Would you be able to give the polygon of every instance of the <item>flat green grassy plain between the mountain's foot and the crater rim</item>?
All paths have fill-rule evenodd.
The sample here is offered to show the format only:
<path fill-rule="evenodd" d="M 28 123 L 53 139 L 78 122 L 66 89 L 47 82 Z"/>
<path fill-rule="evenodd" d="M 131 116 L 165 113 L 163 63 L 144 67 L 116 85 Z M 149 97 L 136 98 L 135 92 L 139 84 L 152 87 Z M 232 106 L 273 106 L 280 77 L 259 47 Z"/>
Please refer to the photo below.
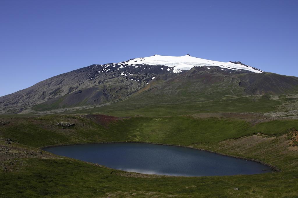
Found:
<path fill-rule="evenodd" d="M 100 113 L 113 116 L 168 116 L 189 115 L 204 112 L 270 112 L 281 105 L 280 100 L 271 96 L 224 96 L 218 100 L 189 98 L 184 102 L 172 100 L 165 102 L 162 98 L 146 99 L 147 95 L 137 95 L 108 106 L 76 110 L 69 113 Z M 140 98 L 139 98 L 140 97 Z"/>

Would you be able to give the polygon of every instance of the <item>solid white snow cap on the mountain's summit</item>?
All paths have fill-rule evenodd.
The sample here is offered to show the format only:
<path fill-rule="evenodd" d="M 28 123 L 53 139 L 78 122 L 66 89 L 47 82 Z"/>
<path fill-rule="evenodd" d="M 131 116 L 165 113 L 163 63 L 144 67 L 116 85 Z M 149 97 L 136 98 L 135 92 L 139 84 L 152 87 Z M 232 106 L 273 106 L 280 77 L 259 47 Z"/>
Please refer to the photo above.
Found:
<path fill-rule="evenodd" d="M 219 62 L 219 61 L 210 61 L 203 58 L 196 58 L 190 55 L 185 56 L 160 56 L 154 55 L 144 58 L 134 58 L 129 61 L 126 61 L 124 64 L 126 65 L 137 65 L 137 64 L 147 64 L 147 65 L 162 65 L 173 67 L 174 73 L 182 72 L 184 69 L 191 69 L 195 66 L 217 66 L 224 69 L 232 69 L 236 71 L 240 71 L 240 69 L 248 70 L 254 73 L 262 73 L 262 70 L 253 68 L 251 66 L 245 66 L 242 64 L 235 64 L 231 62 Z"/>

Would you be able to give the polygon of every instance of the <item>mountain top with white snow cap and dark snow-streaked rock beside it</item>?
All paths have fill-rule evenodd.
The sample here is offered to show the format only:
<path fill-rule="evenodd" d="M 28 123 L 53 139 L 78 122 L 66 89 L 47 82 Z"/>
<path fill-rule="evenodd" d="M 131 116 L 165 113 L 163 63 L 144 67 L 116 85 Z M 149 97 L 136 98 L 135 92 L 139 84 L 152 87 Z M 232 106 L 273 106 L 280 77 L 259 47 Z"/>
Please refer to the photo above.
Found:
<path fill-rule="evenodd" d="M 144 75 L 142 79 L 146 80 L 149 84 L 150 80 L 153 80 L 151 75 L 154 74 L 176 74 L 181 73 L 186 70 L 190 70 L 193 67 L 202 67 L 204 69 L 211 69 L 217 67 L 221 71 L 227 73 L 231 72 L 245 72 L 245 73 L 262 73 L 264 71 L 245 65 L 241 62 L 219 62 L 211 61 L 203 58 L 197 58 L 190 56 L 189 54 L 185 56 L 160 56 L 153 55 L 143 58 L 133 58 L 128 61 L 122 61 L 119 63 L 109 63 L 103 65 L 91 65 L 89 67 L 84 67 L 79 69 L 82 72 L 81 75 L 89 77 L 90 80 L 94 80 L 98 76 L 103 76 L 106 74 L 112 77 L 121 75 L 124 76 L 126 80 L 136 80 L 141 79 L 136 78 L 136 75 Z M 114 73 L 113 73 L 114 72 Z M 112 74 L 113 73 L 113 74 Z M 103 83 L 103 81 L 101 81 Z"/>

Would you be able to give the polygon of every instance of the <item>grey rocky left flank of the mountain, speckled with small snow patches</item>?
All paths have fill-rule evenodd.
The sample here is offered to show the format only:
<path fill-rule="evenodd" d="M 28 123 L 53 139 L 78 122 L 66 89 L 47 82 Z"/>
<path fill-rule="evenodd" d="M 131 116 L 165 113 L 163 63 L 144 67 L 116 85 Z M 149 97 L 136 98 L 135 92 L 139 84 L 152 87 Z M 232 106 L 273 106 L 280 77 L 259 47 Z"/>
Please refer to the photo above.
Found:
<path fill-rule="evenodd" d="M 177 74 L 162 66 L 91 65 L 51 77 L 29 88 L 0 97 L 2 112 L 17 112 L 44 103 L 42 109 L 101 104 L 122 99 L 148 85 L 156 76 Z M 173 71 L 173 69 L 172 69 Z"/>

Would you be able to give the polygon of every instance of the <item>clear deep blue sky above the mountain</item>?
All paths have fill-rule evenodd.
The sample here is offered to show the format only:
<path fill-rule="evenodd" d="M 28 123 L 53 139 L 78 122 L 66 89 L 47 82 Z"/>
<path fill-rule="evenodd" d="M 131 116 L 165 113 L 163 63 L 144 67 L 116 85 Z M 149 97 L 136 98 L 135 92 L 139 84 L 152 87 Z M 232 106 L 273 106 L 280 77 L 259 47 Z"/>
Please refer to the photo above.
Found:
<path fill-rule="evenodd" d="M 1 0 L 0 35 L 0 96 L 154 54 L 298 76 L 297 0 Z"/>

